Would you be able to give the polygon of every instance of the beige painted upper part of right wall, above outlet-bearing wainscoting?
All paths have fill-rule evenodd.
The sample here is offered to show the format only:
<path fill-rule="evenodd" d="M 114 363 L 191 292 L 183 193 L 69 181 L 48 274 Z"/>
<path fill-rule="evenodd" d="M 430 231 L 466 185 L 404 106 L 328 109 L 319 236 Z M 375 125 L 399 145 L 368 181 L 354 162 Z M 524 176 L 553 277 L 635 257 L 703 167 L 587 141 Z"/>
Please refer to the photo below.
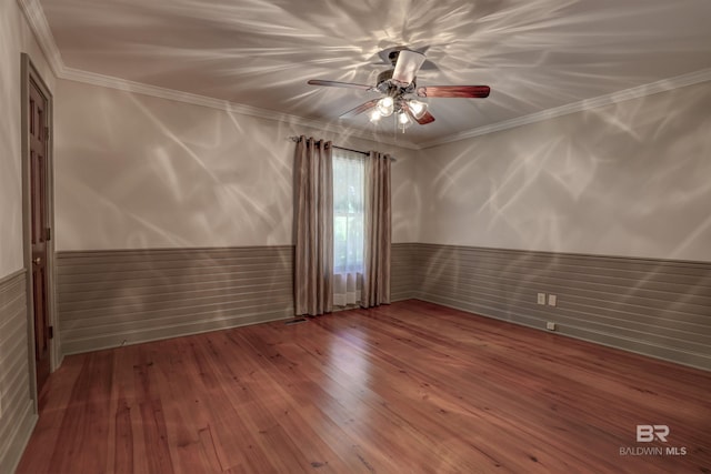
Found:
<path fill-rule="evenodd" d="M 420 152 L 419 241 L 711 261 L 711 82 Z"/>

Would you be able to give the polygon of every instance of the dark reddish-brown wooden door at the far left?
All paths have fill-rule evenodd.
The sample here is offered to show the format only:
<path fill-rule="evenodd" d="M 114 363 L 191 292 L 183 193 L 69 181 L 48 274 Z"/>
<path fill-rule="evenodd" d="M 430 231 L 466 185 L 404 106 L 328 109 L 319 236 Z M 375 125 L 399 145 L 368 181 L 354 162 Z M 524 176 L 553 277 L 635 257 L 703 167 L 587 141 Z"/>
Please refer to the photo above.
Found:
<path fill-rule="evenodd" d="M 49 376 L 49 312 L 47 307 L 48 273 L 48 169 L 49 121 L 47 98 L 30 80 L 29 140 L 30 140 L 30 210 L 32 245 L 32 299 L 34 303 L 34 357 L 37 363 L 37 393 Z"/>

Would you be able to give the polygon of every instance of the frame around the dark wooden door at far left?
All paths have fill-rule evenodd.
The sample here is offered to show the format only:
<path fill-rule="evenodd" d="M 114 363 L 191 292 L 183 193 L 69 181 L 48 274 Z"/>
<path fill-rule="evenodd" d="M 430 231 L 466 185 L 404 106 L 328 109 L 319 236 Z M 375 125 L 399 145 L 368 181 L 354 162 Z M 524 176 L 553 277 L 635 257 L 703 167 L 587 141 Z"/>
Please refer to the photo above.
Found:
<path fill-rule="evenodd" d="M 54 104 L 49 87 L 40 75 L 38 69 L 27 53 L 21 53 L 21 117 L 22 117 L 22 251 L 24 256 L 24 273 L 27 286 L 27 322 L 28 322 L 28 359 L 30 370 L 30 393 L 38 411 L 39 394 L 37 393 L 37 367 L 34 364 L 34 299 L 32 297 L 32 209 L 30 206 L 30 133 L 28 102 L 30 97 L 30 81 L 34 82 L 40 92 L 47 98 L 47 213 L 51 235 L 47 248 L 47 312 L 48 323 L 54 327 L 53 337 L 49 340 L 49 371 L 54 372 L 61 364 L 59 331 L 57 321 L 56 297 L 56 266 L 54 266 Z"/>

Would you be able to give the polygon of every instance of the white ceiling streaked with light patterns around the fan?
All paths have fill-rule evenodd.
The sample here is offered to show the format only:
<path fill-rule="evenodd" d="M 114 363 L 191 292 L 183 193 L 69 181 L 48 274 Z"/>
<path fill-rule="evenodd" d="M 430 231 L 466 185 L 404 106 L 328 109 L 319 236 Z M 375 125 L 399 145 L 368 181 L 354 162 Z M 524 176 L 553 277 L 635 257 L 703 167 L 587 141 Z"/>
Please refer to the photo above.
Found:
<path fill-rule="evenodd" d="M 408 129 L 414 145 L 711 68 L 709 0 L 40 3 L 68 68 L 310 120 L 336 123 L 377 94 L 307 80 L 374 84 L 388 69 L 378 52 L 394 46 L 428 48 L 437 69 L 419 85 L 492 88 L 430 99 L 437 121 Z M 373 128 L 364 114 L 347 123 Z"/>

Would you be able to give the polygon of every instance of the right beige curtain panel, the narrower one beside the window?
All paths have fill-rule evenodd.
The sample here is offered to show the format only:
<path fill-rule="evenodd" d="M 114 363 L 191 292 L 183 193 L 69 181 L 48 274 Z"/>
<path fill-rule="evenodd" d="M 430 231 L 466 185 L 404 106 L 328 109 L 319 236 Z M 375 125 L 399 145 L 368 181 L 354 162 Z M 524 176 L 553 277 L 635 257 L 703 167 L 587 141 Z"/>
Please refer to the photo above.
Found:
<path fill-rule="evenodd" d="M 371 151 L 365 162 L 364 307 L 390 303 L 390 155 Z"/>

